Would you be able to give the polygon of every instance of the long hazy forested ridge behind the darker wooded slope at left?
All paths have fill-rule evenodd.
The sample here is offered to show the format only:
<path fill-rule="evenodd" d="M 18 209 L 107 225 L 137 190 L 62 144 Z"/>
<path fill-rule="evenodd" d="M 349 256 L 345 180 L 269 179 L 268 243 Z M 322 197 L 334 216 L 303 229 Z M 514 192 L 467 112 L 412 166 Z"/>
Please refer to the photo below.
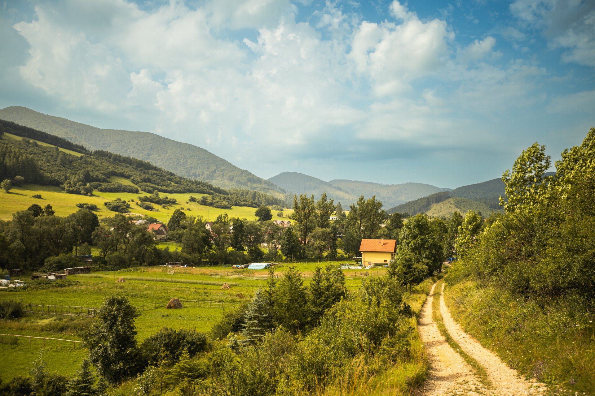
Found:
<path fill-rule="evenodd" d="M 0 119 L 48 132 L 84 145 L 89 150 L 106 150 L 149 161 L 176 175 L 226 189 L 248 188 L 277 197 L 281 197 L 283 192 L 274 183 L 240 169 L 201 147 L 149 132 L 101 129 L 17 106 L 0 110 Z"/>

